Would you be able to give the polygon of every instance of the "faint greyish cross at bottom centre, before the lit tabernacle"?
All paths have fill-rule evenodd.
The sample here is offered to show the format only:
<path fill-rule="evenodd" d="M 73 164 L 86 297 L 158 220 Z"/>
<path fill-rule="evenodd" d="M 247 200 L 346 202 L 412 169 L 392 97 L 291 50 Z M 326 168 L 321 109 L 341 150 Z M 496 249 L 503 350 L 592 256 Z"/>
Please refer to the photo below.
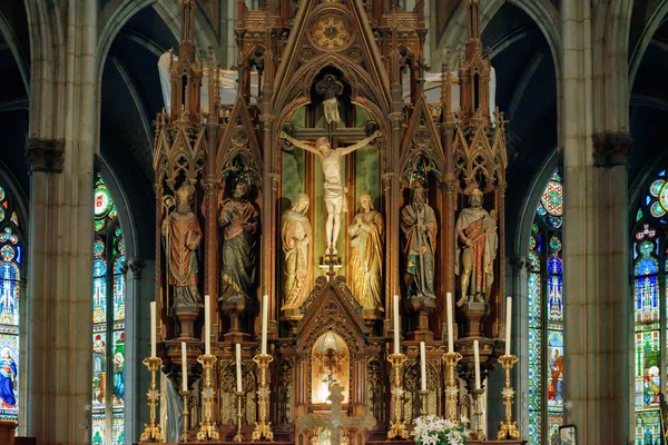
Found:
<path fill-rule="evenodd" d="M 332 411 L 327 417 L 320 417 L 308 414 L 297 419 L 301 428 L 315 431 L 317 428 L 328 429 L 332 434 L 331 445 L 341 445 L 341 432 L 344 428 L 370 429 L 375 425 L 375 418 L 370 413 L 363 416 L 348 417 L 342 412 L 343 388 L 337 383 L 330 385 L 330 396 Z"/>

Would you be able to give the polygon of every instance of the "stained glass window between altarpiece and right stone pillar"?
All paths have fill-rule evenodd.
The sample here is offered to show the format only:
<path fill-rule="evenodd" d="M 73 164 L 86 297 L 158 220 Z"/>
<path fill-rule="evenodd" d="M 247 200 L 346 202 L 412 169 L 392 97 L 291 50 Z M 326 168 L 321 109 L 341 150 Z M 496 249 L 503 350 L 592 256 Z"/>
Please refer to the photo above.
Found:
<path fill-rule="evenodd" d="M 529 443 L 551 443 L 563 423 L 563 181 L 548 181 L 529 244 Z M 548 438 L 547 441 L 544 438 Z"/>

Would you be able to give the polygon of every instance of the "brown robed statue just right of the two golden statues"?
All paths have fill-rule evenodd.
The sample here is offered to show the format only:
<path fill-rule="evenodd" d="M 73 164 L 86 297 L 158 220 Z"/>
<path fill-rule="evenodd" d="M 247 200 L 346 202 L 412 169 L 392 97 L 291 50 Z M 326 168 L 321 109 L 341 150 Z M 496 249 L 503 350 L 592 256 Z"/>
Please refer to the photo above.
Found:
<path fill-rule="evenodd" d="M 416 184 L 411 202 L 401 209 L 401 229 L 405 235 L 406 296 L 435 298 L 434 254 L 439 226 L 434 210 L 426 204 L 426 190 Z"/>

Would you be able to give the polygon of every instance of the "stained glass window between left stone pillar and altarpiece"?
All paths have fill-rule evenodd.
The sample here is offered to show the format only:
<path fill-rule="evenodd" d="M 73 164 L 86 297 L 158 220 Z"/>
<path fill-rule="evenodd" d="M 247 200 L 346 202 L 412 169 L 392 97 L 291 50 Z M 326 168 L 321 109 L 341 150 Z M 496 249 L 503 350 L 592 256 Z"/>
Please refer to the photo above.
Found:
<path fill-rule="evenodd" d="M 92 443 L 125 441 L 125 241 L 101 177 L 94 196 Z"/>

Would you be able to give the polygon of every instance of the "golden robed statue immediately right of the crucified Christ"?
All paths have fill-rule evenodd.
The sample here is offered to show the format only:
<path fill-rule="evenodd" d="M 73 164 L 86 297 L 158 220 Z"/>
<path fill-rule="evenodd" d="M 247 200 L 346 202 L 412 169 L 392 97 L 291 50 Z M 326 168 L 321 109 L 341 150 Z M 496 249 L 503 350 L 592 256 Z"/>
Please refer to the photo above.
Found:
<path fill-rule="evenodd" d="M 348 227 L 351 236 L 351 290 L 364 309 L 381 304 L 383 267 L 383 217 L 374 210 L 371 195 L 360 196 L 360 211 Z"/>

